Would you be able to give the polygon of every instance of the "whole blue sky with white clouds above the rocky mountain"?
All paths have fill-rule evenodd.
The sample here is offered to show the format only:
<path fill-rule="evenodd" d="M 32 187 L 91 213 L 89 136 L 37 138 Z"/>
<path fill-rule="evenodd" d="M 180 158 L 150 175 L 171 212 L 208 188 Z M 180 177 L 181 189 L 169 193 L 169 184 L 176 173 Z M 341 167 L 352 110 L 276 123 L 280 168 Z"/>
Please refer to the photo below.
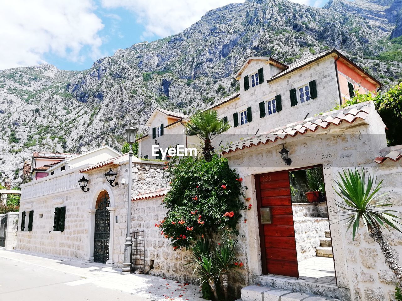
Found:
<path fill-rule="evenodd" d="M 119 48 L 179 33 L 233 2 L 244 0 L 0 0 L 0 70 L 40 63 L 88 69 Z"/>

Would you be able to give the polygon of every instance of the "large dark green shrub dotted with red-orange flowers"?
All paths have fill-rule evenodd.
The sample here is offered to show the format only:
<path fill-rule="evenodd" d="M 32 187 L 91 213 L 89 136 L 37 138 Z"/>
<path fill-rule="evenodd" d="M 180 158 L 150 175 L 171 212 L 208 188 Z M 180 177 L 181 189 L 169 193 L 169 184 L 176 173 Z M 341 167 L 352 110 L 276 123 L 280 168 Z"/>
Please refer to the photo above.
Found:
<path fill-rule="evenodd" d="M 246 187 L 228 161 L 216 156 L 210 162 L 193 157 L 176 160 L 166 164 L 172 189 L 163 202 L 166 217 L 155 225 L 161 234 L 178 248 L 189 247 L 203 235 L 220 234 L 223 240 L 238 235 L 240 211 L 248 208 L 243 201 Z"/>

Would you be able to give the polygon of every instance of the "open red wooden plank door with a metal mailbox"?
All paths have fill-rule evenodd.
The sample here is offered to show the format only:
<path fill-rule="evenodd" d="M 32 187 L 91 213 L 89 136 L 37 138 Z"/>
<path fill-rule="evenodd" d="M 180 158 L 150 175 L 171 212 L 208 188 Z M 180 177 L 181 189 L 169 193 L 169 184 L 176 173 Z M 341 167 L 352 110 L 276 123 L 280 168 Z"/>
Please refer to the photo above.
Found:
<path fill-rule="evenodd" d="M 263 272 L 299 277 L 288 171 L 256 175 Z M 270 207 L 271 224 L 262 224 L 260 208 Z"/>

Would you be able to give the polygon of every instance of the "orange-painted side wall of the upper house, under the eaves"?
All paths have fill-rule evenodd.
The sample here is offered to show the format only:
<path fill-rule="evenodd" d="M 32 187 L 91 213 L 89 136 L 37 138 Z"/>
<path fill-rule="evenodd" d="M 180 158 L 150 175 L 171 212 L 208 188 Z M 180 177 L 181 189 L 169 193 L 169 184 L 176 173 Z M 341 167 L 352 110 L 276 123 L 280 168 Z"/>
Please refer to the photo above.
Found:
<path fill-rule="evenodd" d="M 355 90 L 358 90 L 359 94 L 366 94 L 366 90 L 369 90 L 373 94 L 377 94 L 377 87 L 369 82 L 367 79 L 363 78 L 361 74 L 353 70 L 351 67 L 346 65 L 341 59 L 336 62 L 336 65 L 338 67 L 338 78 L 339 78 L 339 87 L 340 87 L 340 93 L 342 95 L 342 100 L 343 103 L 345 103 L 346 100 L 349 100 L 349 87 L 348 87 L 348 80 L 345 77 L 345 75 L 353 81 Z M 342 73 L 342 74 L 341 74 Z M 364 89 L 365 88 L 365 89 Z"/>

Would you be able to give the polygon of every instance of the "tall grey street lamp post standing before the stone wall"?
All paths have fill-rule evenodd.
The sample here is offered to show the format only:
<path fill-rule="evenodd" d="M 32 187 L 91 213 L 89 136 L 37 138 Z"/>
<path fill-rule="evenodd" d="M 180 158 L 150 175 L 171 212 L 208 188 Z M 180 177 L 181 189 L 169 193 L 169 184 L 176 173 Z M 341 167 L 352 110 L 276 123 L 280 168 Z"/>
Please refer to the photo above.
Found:
<path fill-rule="evenodd" d="M 127 232 L 126 241 L 124 243 L 124 262 L 123 272 L 130 272 L 131 270 L 131 189 L 132 189 L 132 165 L 133 165 L 133 143 L 137 135 L 137 130 L 133 126 L 125 129 L 127 135 L 127 142 L 130 145 L 128 152 L 128 193 L 127 193 Z"/>

